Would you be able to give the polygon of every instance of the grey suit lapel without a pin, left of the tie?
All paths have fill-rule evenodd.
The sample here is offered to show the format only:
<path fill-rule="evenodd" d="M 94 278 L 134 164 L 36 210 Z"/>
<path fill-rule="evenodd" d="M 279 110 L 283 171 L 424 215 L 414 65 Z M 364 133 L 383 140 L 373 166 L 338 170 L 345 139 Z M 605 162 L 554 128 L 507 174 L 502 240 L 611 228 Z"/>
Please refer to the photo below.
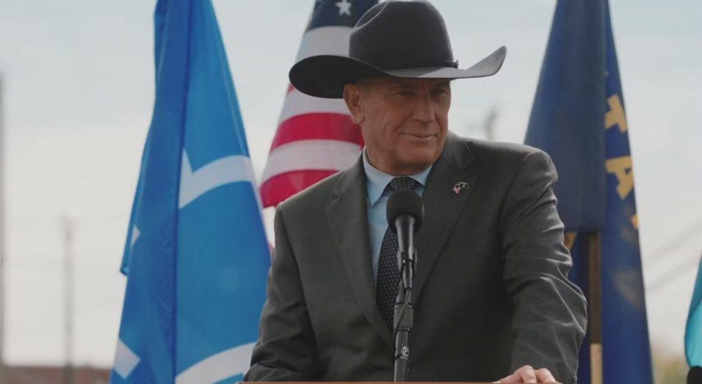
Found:
<path fill-rule="evenodd" d="M 326 215 L 339 248 L 338 256 L 366 318 L 390 346 L 390 332 L 376 304 L 376 282 L 371 266 L 366 207 L 366 177 L 360 158 L 354 167 L 343 172 L 332 192 L 336 198 L 327 205 Z"/>

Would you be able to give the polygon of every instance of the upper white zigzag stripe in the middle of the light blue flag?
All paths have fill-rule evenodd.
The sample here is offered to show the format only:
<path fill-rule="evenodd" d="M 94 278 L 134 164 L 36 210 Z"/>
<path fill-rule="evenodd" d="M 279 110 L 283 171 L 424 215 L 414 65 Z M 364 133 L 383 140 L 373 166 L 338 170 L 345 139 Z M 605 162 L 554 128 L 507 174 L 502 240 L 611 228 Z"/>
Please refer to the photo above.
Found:
<path fill-rule="evenodd" d="M 220 158 L 204 165 L 204 167 L 199 168 L 195 172 L 192 172 L 190 159 L 187 158 L 185 150 L 183 150 L 181 161 L 178 208 L 185 207 L 207 191 L 211 191 L 218 186 L 237 181 L 249 181 L 252 186 L 256 185 L 253 169 L 251 168 L 251 160 L 246 156 L 237 155 Z M 254 188 L 254 190 L 257 189 Z M 258 199 L 258 193 L 256 193 L 256 198 Z M 260 201 L 258 206 L 261 207 Z"/>

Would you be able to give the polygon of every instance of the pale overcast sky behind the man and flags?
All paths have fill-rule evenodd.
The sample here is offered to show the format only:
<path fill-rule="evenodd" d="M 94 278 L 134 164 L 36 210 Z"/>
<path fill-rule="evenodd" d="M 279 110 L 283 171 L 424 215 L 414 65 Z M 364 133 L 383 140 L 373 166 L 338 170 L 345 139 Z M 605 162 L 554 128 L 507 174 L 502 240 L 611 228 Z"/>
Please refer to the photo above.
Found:
<path fill-rule="evenodd" d="M 215 0 L 260 178 L 312 0 Z M 453 83 L 450 129 L 498 109 L 522 142 L 554 0 L 435 0 L 462 64 L 498 46 L 497 76 Z M 682 352 L 702 253 L 702 4 L 612 1 L 635 169 L 651 338 Z M 118 272 L 153 95 L 154 1 L 0 0 L 6 101 L 6 359 L 62 363 L 62 217 L 75 221 L 79 363 L 109 366 Z"/>

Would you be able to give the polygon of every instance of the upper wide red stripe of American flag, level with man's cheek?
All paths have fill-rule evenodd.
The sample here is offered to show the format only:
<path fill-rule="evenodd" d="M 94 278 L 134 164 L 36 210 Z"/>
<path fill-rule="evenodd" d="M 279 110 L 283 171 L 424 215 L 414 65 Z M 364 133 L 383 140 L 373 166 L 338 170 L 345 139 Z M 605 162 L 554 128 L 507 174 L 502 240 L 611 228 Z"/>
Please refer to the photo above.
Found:
<path fill-rule="evenodd" d="M 271 151 L 298 140 L 338 140 L 363 146 L 361 128 L 351 116 L 342 114 L 304 114 L 284 121 L 275 134 Z"/>

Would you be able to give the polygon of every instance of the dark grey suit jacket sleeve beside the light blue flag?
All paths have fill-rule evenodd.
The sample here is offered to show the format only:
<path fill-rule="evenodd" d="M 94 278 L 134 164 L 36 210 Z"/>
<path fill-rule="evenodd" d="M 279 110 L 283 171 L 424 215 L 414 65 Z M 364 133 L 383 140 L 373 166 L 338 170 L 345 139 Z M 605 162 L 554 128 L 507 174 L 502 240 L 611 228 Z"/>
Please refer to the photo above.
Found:
<path fill-rule="evenodd" d="M 258 341 L 244 381 L 307 381 L 317 378 L 317 344 L 307 315 L 298 264 L 283 220 L 275 214 L 275 249 Z"/>

